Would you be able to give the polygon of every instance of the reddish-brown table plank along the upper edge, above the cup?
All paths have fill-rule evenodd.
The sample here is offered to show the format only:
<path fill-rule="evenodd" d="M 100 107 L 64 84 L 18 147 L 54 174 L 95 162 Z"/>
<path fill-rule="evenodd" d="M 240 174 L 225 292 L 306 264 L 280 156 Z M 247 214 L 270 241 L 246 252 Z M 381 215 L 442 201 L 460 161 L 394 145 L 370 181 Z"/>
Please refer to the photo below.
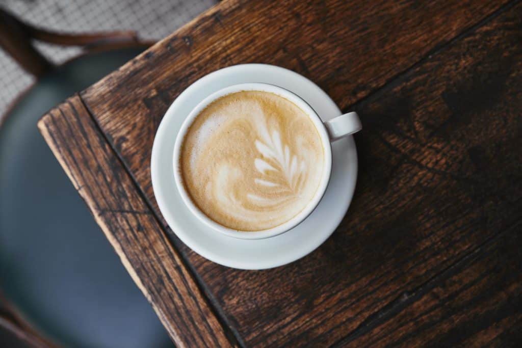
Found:
<path fill-rule="evenodd" d="M 152 199 L 156 129 L 198 78 L 234 64 L 275 64 L 312 79 L 344 108 L 506 2 L 222 2 L 81 97 Z"/>

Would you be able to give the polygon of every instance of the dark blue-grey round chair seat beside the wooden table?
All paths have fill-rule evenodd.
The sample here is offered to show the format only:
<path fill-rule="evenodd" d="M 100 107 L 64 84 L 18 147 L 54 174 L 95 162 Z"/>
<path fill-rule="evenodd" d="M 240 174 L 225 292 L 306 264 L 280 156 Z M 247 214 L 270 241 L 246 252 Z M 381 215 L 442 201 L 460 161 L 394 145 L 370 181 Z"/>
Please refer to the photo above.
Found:
<path fill-rule="evenodd" d="M 173 346 L 36 126 L 141 51 L 92 53 L 57 67 L 0 127 L 0 289 L 63 346 Z"/>

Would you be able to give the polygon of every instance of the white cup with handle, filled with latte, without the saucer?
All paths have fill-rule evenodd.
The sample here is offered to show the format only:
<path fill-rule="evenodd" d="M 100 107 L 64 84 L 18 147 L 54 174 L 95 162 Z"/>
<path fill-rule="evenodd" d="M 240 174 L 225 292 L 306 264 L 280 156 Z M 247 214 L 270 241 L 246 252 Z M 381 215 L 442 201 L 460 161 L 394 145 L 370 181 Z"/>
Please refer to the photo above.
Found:
<path fill-rule="evenodd" d="M 245 121 L 250 113 L 255 115 Z M 287 122 L 285 113 L 295 119 Z M 210 94 L 183 122 L 174 145 L 174 180 L 188 209 L 212 230 L 242 239 L 273 237 L 301 223 L 317 207 L 331 175 L 331 142 L 359 130 L 355 112 L 323 122 L 287 89 L 267 83 L 230 86 Z M 235 158 L 242 145 L 231 139 L 251 139 L 247 153 L 255 152 L 255 158 Z M 215 148 L 210 141 L 216 142 Z M 302 149 L 306 151 L 301 156 L 293 153 Z M 211 151 L 218 152 L 207 155 Z M 258 177 L 247 181 L 234 163 L 222 161 L 224 156 L 242 161 L 243 170 Z M 223 163 L 215 163 L 217 157 Z M 276 177 L 278 170 L 287 175 Z M 296 187 L 301 191 L 295 193 Z M 238 198 L 245 190 L 248 199 Z"/>

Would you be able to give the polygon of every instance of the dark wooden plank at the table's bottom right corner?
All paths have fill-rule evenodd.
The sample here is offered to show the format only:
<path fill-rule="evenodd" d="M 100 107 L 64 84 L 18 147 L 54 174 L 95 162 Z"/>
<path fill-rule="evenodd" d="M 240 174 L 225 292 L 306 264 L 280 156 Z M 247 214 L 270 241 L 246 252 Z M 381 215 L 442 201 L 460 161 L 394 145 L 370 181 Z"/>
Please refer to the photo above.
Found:
<path fill-rule="evenodd" d="M 386 322 L 336 346 L 509 347 L 522 342 L 522 223 L 443 274 Z M 518 229 L 516 231 L 515 229 Z"/>

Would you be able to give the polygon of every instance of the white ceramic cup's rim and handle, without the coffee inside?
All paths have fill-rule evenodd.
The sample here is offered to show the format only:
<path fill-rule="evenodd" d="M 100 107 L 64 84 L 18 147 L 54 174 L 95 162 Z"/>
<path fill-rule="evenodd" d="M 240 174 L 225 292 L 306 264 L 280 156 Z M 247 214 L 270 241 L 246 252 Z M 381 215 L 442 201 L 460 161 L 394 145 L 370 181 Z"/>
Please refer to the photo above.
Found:
<path fill-rule="evenodd" d="M 201 111 L 205 109 L 210 103 L 223 97 L 224 95 L 231 94 L 234 92 L 240 91 L 264 91 L 270 92 L 281 97 L 288 99 L 293 102 L 295 105 L 299 106 L 301 110 L 303 110 L 314 123 L 319 136 L 321 137 L 321 141 L 323 143 L 324 149 L 324 170 L 323 177 L 321 178 L 321 182 L 317 188 L 317 191 L 314 197 L 310 200 L 310 202 L 306 205 L 306 207 L 295 217 L 290 219 L 289 221 L 280 224 L 276 227 L 272 227 L 271 229 L 261 230 L 261 231 L 239 231 L 230 229 L 229 227 L 225 227 L 209 217 L 205 213 L 203 213 L 199 208 L 194 204 L 189 194 L 187 193 L 185 186 L 183 185 L 183 179 L 181 176 L 181 168 L 180 168 L 180 155 L 181 155 L 181 147 L 183 144 L 183 140 L 187 133 L 188 128 L 194 122 L 194 119 L 199 115 Z M 188 114 L 187 118 L 181 125 L 180 131 L 177 134 L 176 142 L 174 145 L 174 153 L 173 153 L 173 164 L 174 164 L 174 179 L 176 182 L 177 189 L 180 192 L 180 195 L 185 202 L 185 205 L 188 209 L 203 223 L 207 226 L 211 227 L 213 230 L 223 233 L 230 237 L 241 238 L 241 239 L 262 239 L 269 238 L 286 232 L 299 223 L 301 223 L 312 211 L 317 207 L 319 201 L 323 198 L 323 195 L 326 191 L 326 187 L 328 186 L 328 182 L 330 180 L 331 168 L 332 168 L 332 152 L 331 152 L 331 141 L 335 141 L 339 138 L 348 136 L 353 133 L 357 133 L 361 130 L 361 121 L 359 120 L 359 116 L 355 112 L 349 112 L 347 114 L 343 114 L 337 116 L 335 118 L 330 119 L 329 121 L 323 122 L 319 115 L 312 109 L 312 107 L 306 103 L 303 99 L 301 99 L 298 95 L 292 93 L 291 91 L 275 86 L 269 85 L 268 83 L 241 83 L 240 85 L 234 85 L 227 88 L 223 88 L 217 92 L 210 94 L 207 98 L 201 101 L 196 107 L 192 110 L 191 113 Z"/>

